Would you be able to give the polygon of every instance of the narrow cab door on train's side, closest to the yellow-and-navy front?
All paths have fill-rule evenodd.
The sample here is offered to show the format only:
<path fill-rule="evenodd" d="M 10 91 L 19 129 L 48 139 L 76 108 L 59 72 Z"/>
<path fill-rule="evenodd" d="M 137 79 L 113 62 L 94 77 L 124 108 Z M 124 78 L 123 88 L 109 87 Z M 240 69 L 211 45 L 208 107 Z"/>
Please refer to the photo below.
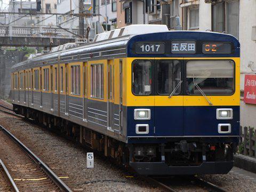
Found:
<path fill-rule="evenodd" d="M 123 134 L 123 60 L 119 60 L 119 133 Z"/>

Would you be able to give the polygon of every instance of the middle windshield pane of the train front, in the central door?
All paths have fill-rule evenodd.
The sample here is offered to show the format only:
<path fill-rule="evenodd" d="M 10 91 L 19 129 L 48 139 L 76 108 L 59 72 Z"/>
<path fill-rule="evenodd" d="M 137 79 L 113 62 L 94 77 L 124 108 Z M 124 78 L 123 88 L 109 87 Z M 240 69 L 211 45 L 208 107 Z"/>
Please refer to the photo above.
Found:
<path fill-rule="evenodd" d="M 181 63 L 178 60 L 159 60 L 156 65 L 157 94 L 170 95 L 181 81 Z M 181 86 L 174 95 L 181 92 Z"/>

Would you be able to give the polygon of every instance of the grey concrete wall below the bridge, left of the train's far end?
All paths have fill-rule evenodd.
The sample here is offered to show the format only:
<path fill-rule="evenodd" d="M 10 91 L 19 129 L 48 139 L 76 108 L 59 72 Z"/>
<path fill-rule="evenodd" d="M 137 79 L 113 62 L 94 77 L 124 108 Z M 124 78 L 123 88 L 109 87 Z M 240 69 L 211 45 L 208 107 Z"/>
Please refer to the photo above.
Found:
<path fill-rule="evenodd" d="M 0 50 L 0 98 L 8 99 L 11 93 L 11 67 L 23 60 L 22 51 Z"/>

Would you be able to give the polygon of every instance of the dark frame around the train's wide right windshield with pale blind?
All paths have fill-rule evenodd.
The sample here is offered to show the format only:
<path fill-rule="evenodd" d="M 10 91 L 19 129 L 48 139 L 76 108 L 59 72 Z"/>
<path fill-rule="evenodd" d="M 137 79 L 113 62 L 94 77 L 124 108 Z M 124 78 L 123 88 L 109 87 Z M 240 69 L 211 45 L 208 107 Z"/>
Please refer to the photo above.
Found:
<path fill-rule="evenodd" d="M 187 63 L 189 61 L 232 61 L 234 63 L 234 78 L 233 78 L 233 83 L 234 83 L 234 91 L 231 94 L 206 94 L 206 96 L 231 96 L 234 95 L 236 93 L 236 62 L 233 59 L 189 59 L 189 60 L 183 60 L 184 62 L 184 71 L 183 74 L 185 74 L 183 76 L 183 82 L 185 82 L 184 84 L 184 94 L 183 95 L 189 95 L 189 96 L 201 96 L 202 94 L 189 94 L 187 92 L 188 90 L 188 85 L 187 85 Z M 204 90 L 203 90 L 204 91 Z"/>

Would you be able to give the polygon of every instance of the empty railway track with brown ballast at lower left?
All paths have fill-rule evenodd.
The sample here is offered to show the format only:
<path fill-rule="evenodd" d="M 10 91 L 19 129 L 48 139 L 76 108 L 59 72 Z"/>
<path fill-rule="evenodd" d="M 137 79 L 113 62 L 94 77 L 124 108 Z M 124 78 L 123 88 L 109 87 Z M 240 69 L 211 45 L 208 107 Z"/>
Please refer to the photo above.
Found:
<path fill-rule="evenodd" d="M 20 191 L 71 191 L 31 150 L 0 125 L 0 158 Z"/>

